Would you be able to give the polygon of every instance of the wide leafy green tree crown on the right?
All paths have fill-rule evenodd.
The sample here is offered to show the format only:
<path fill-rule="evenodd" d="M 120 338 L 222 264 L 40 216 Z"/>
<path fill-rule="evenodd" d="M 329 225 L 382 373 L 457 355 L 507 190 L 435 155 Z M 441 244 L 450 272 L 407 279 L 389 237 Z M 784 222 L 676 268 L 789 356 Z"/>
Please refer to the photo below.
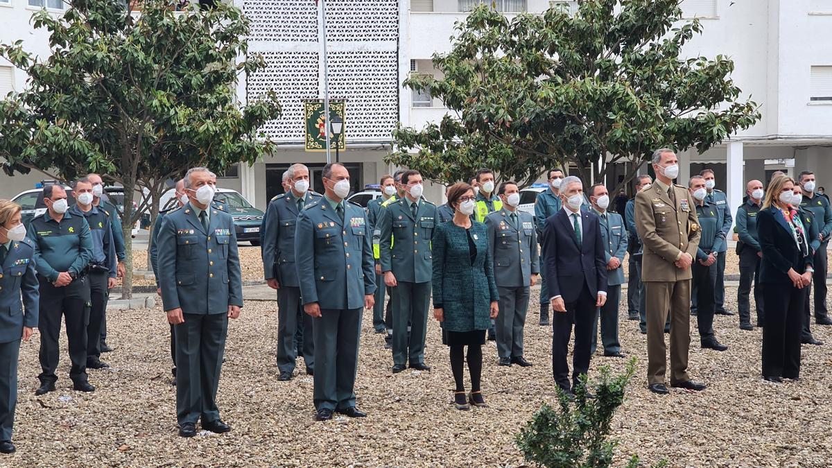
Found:
<path fill-rule="evenodd" d="M 658 147 L 704 152 L 760 119 L 730 78 L 730 58 L 681 57 L 702 32 L 698 20 L 682 20 L 681 0 L 577 3 L 575 14 L 470 12 L 451 51 L 433 56 L 442 77 L 404 83 L 451 113 L 397 128 L 386 161 L 441 182 L 490 167 L 524 183 L 567 166 L 603 180 L 611 164 L 628 162 L 626 184 Z"/>

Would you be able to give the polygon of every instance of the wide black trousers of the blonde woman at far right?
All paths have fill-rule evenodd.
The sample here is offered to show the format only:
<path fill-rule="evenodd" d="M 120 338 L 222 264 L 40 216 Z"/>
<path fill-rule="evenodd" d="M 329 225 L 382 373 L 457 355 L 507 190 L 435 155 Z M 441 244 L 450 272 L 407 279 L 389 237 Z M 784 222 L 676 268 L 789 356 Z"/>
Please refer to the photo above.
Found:
<path fill-rule="evenodd" d="M 807 288 L 789 284 L 763 285 L 765 326 L 763 326 L 763 376 L 800 376 L 800 328 Z"/>

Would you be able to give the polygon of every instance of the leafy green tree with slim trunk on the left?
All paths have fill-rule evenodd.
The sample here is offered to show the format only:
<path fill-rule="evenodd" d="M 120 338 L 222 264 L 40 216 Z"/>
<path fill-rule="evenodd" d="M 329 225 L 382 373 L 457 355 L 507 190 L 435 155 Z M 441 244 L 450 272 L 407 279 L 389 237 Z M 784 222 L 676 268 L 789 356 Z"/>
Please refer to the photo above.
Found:
<path fill-rule="evenodd" d="M 42 60 L 22 41 L 0 56 L 28 73 L 27 87 L 0 101 L 0 157 L 8 175 L 43 172 L 72 181 L 98 172 L 126 187 L 122 296 L 132 286 L 131 227 L 188 167 L 214 171 L 254 163 L 274 143 L 258 129 L 280 116 L 275 93 L 236 98 L 237 79 L 265 67 L 248 54 L 249 20 L 216 2 L 184 12 L 177 0 L 72 0 L 61 17 L 35 12 L 52 55 Z M 134 198 L 138 209 L 131 211 Z"/>

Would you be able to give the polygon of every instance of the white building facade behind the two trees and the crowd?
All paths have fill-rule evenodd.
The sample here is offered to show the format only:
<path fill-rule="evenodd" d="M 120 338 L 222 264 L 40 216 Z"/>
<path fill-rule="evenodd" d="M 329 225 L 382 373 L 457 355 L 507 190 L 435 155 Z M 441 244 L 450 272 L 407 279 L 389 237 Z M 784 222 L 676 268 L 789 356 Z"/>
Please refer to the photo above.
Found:
<path fill-rule="evenodd" d="M 393 169 L 383 158 L 391 149 L 396 122 L 422 127 L 448 112 L 438 100 L 414 94 L 401 83 L 411 72 L 438 76 L 433 53 L 449 50 L 454 23 L 482 1 L 326 1 L 329 97 L 346 102 L 347 150 L 339 156 L 349 167 L 354 190 L 378 183 Z M 280 174 L 290 163 L 305 162 L 319 178 L 325 162 L 325 153 L 305 152 L 303 146 L 303 103 L 324 97 L 319 7 L 314 0 L 234 2 L 252 20 L 250 51 L 262 53 L 269 63 L 265 72 L 240 82 L 238 96 L 245 102 L 274 88 L 284 114 L 265 128 L 279 143 L 278 151 L 254 167 L 232 168 L 220 185 L 265 208 L 270 197 L 282 192 Z M 59 3 L 0 0 L 5 26 L 0 42 L 22 38 L 28 50 L 47 54 L 47 37 L 32 30 L 29 17 L 39 5 Z M 555 3 L 576 6 L 567 0 L 495 0 L 507 15 L 542 12 Z M 717 187 L 729 192 L 732 207 L 739 206 L 747 180 L 766 181 L 775 170 L 794 176 L 812 170 L 824 186 L 832 175 L 832 0 L 685 0 L 682 8 L 686 17 L 699 17 L 704 28 L 688 44 L 686 55 L 730 56 L 735 62 L 732 78 L 743 97 L 760 104 L 762 119 L 704 154 L 682 152 L 679 181 L 711 167 Z M 0 63 L 0 93 L 19 90 L 25 81 L 22 72 Z M 12 197 L 32 187 L 39 176 L 0 178 L 0 196 Z M 319 182 L 314 187 L 321 188 Z M 438 187 L 426 195 L 441 201 Z"/>

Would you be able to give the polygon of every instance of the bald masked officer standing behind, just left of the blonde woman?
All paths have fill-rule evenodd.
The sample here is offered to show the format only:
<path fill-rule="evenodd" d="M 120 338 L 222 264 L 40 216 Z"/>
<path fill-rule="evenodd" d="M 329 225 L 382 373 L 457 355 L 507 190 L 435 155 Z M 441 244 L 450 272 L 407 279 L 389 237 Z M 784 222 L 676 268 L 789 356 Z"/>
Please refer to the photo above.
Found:
<path fill-rule="evenodd" d="M 740 256 L 740 287 L 736 293 L 737 311 L 740 314 L 740 329 L 754 330 L 751 326 L 751 304 L 749 295 L 754 282 L 754 302 L 757 309 L 757 326 L 765 321 L 765 304 L 760 285 L 760 259 L 763 257 L 760 235 L 757 233 L 757 215 L 763 203 L 763 182 L 754 180 L 745 185 L 748 200 L 736 210 L 736 232 L 739 241 L 736 253 Z"/>

